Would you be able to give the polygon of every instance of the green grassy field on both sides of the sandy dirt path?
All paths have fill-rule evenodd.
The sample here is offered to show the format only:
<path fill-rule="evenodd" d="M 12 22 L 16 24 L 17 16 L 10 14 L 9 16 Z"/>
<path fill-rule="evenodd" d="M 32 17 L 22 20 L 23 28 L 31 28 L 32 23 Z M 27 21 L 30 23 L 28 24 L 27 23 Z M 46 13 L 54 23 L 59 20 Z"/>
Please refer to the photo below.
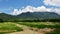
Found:
<path fill-rule="evenodd" d="M 60 23 L 58 22 L 4 22 L 0 23 L 0 34 L 23 30 L 22 27 L 18 27 L 14 23 L 37 29 L 51 28 L 55 30 L 46 34 L 60 34 Z"/>

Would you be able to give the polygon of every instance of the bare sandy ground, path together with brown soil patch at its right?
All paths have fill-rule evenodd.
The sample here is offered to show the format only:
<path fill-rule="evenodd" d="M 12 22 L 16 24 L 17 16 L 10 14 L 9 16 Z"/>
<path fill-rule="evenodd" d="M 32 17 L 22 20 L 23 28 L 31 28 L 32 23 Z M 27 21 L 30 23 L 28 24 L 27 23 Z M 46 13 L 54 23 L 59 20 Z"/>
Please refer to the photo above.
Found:
<path fill-rule="evenodd" d="M 46 32 L 50 32 L 53 29 L 49 29 L 49 28 L 44 28 L 44 29 L 37 29 L 38 31 L 35 30 L 31 30 L 31 27 L 28 27 L 26 25 L 21 25 L 21 24 L 17 24 L 17 23 L 13 23 L 18 27 L 22 27 L 23 31 L 20 32 L 14 32 L 14 33 L 10 33 L 10 34 L 46 34 Z M 36 28 L 33 28 L 36 29 Z"/>

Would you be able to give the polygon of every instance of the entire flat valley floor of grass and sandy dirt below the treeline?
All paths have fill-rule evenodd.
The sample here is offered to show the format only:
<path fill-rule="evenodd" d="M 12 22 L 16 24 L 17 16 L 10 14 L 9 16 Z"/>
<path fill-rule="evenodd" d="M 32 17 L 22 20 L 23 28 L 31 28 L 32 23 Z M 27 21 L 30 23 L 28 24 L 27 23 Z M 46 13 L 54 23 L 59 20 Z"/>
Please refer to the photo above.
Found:
<path fill-rule="evenodd" d="M 60 23 L 4 22 L 0 23 L 0 34 L 5 34 L 4 32 L 6 34 L 60 34 Z"/>

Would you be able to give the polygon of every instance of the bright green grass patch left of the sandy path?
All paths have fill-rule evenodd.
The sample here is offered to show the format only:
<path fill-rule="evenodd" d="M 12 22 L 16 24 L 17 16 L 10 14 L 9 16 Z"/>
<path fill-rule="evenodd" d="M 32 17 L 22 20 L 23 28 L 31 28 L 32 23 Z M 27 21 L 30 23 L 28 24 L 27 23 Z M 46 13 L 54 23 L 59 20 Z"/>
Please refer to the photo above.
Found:
<path fill-rule="evenodd" d="M 0 34 L 17 32 L 17 31 L 22 31 L 22 28 L 8 22 L 0 23 Z"/>

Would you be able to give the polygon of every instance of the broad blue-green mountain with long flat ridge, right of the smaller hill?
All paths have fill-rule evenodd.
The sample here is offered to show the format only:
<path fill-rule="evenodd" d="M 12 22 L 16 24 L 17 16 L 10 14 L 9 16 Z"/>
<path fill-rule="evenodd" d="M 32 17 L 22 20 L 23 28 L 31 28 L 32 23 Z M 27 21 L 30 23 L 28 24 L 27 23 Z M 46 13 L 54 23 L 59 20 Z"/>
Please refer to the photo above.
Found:
<path fill-rule="evenodd" d="M 53 12 L 27 12 L 17 15 L 20 19 L 60 19 L 60 15 Z"/>

